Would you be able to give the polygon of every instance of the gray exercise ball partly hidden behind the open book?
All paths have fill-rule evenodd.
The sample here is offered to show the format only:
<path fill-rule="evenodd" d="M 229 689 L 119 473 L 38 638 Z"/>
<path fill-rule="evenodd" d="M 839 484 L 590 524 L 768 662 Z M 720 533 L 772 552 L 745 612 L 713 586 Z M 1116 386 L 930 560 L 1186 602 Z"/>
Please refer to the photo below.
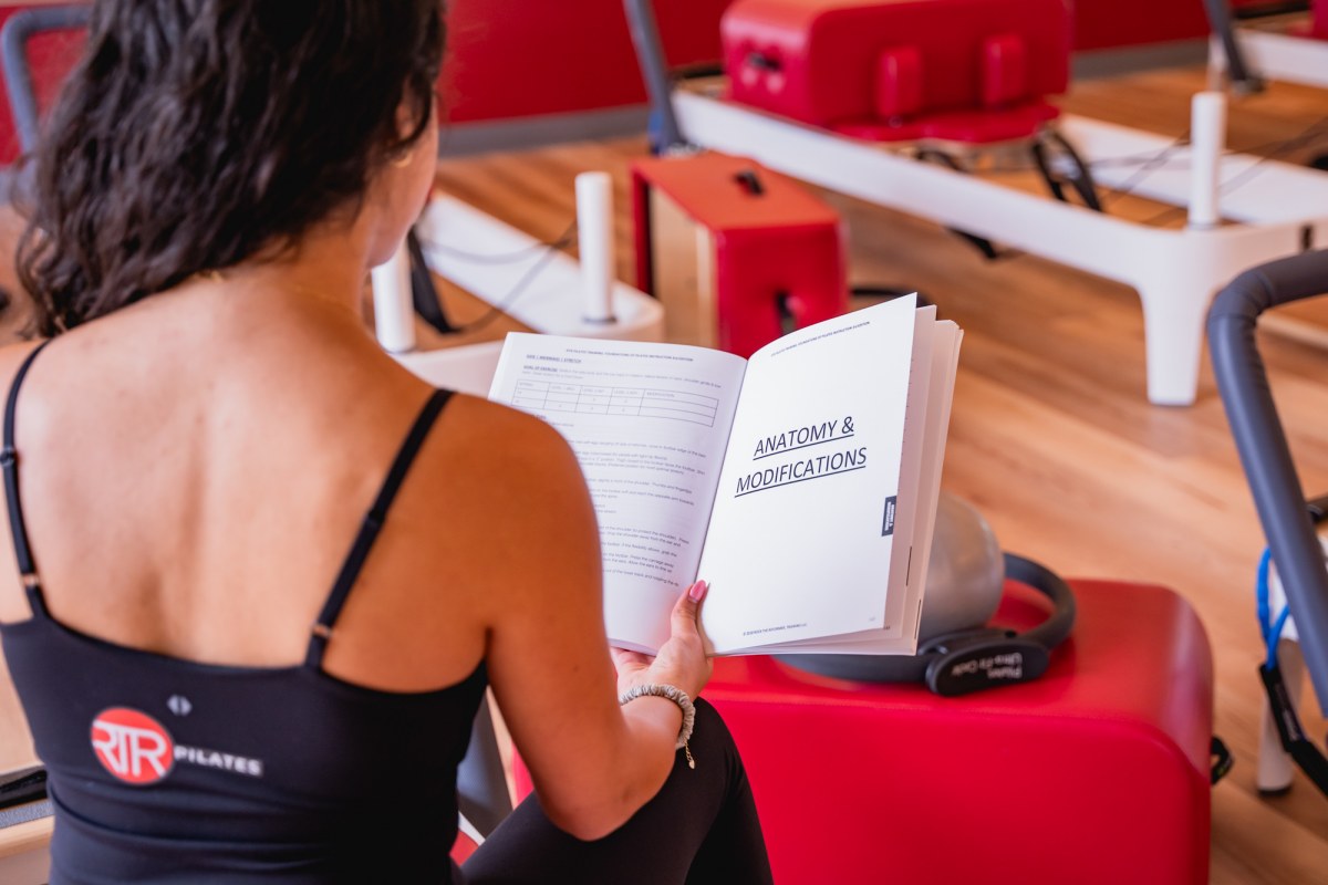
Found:
<path fill-rule="evenodd" d="M 942 492 L 919 640 L 987 624 L 1000 605 L 1004 584 L 1005 563 L 991 525 L 972 506 Z"/>

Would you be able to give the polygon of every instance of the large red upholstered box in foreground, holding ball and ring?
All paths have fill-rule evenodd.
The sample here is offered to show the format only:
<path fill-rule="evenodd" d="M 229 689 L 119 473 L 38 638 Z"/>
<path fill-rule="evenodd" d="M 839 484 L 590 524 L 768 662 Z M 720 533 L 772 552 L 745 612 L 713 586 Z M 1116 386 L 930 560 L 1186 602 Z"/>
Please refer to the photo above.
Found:
<path fill-rule="evenodd" d="M 776 881 L 1207 882 L 1203 628 L 1163 588 L 1073 586 L 1074 636 L 1028 685 L 939 698 L 717 661 L 704 697 L 746 760 Z M 997 622 L 1031 605 L 1007 593 Z"/>

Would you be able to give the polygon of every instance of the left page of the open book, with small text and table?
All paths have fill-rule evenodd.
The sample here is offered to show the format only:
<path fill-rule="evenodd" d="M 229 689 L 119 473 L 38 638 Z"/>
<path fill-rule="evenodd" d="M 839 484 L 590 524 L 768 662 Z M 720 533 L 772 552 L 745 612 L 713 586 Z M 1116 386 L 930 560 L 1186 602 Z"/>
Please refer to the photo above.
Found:
<path fill-rule="evenodd" d="M 489 398 L 543 418 L 575 451 L 615 645 L 656 650 L 696 580 L 745 368 L 685 345 L 507 336 Z"/>

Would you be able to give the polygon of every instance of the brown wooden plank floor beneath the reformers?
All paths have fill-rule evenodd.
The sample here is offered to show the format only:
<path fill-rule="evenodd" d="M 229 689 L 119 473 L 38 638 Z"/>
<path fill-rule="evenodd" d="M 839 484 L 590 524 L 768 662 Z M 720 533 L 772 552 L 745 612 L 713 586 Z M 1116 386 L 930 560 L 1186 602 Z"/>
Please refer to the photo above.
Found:
<path fill-rule="evenodd" d="M 1189 97 L 1203 86 L 1198 69 L 1150 72 L 1077 84 L 1064 106 L 1181 135 Z M 1275 84 L 1231 107 L 1228 143 L 1267 151 L 1325 114 L 1328 93 Z M 1279 158 L 1301 161 L 1313 147 Z M 1317 149 L 1328 151 L 1328 139 Z M 438 184 L 552 240 L 572 219 L 574 176 L 608 170 L 619 271 L 631 280 L 625 166 L 644 150 L 627 139 L 446 161 Z M 1216 731 L 1238 759 L 1214 791 L 1211 881 L 1328 881 L 1328 799 L 1303 779 L 1280 799 L 1254 789 L 1252 585 L 1264 541 L 1207 364 L 1195 406 L 1150 406 L 1139 303 L 1127 287 L 1028 255 L 988 261 L 934 224 L 827 199 L 849 220 L 855 283 L 918 288 L 965 329 L 944 487 L 980 508 L 1009 551 L 1066 576 L 1163 584 L 1199 612 L 1216 663 Z M 1126 210 L 1147 218 L 1157 207 L 1113 208 Z M 1328 350 L 1274 336 L 1263 344 L 1307 491 L 1328 491 Z M 1304 718 L 1323 746 L 1323 719 Z"/>

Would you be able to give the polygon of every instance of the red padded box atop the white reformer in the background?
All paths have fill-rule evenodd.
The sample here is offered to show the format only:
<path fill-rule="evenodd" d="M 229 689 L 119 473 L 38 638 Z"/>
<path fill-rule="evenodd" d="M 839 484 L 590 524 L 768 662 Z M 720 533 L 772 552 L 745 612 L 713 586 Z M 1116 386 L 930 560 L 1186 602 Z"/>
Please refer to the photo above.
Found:
<path fill-rule="evenodd" d="M 730 97 L 880 141 L 1023 138 L 1069 81 L 1064 0 L 736 0 Z"/>

